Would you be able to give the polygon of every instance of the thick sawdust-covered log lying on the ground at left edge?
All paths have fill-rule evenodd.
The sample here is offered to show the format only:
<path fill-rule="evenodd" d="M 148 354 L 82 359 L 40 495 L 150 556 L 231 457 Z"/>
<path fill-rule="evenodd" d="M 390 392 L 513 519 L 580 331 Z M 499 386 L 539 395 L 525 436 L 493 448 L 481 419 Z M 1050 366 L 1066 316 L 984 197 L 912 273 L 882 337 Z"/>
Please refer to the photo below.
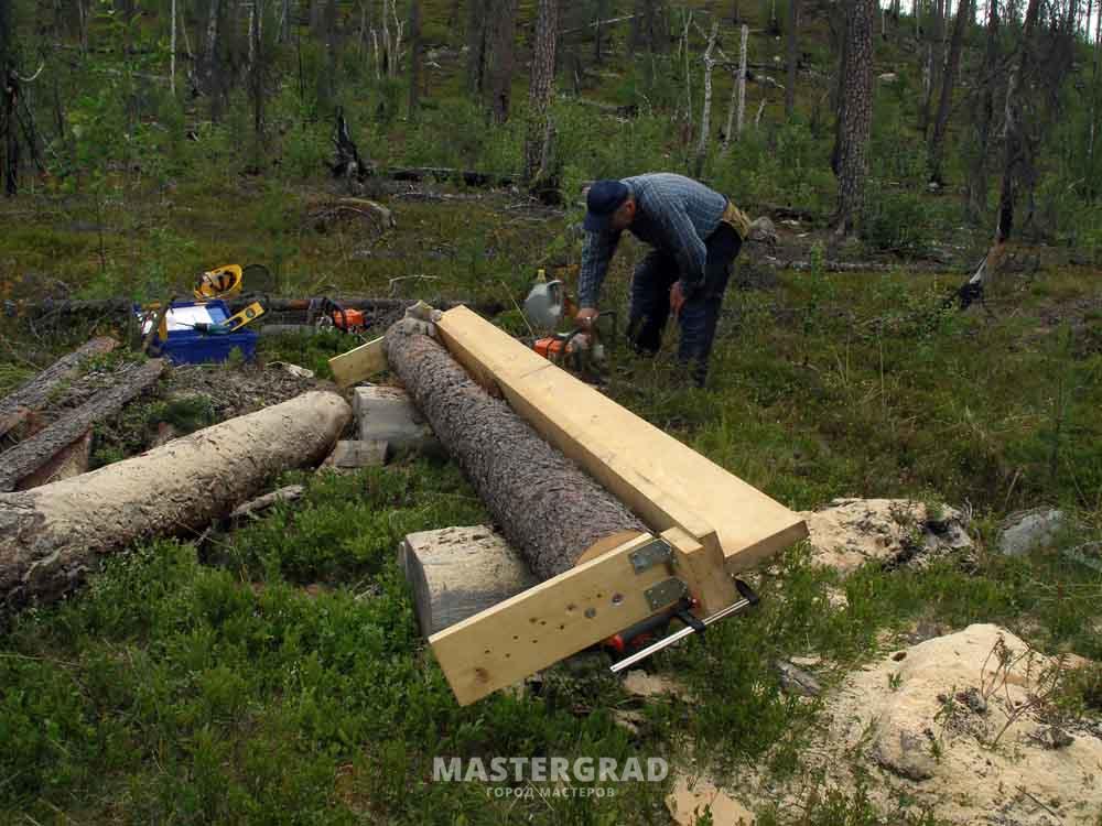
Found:
<path fill-rule="evenodd" d="M 0 493 L 0 616 L 64 596 L 136 541 L 222 519 L 277 474 L 324 458 L 350 419 L 339 395 L 311 391 L 73 479 Z"/>

